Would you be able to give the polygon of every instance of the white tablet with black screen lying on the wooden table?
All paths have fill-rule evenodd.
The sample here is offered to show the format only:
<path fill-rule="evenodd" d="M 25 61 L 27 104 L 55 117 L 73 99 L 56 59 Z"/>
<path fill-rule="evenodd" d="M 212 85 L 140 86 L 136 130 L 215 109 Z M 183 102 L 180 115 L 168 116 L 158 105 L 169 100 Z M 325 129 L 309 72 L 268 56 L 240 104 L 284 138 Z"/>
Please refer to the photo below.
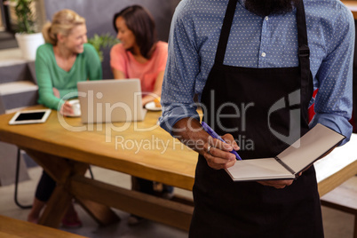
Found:
<path fill-rule="evenodd" d="M 51 114 L 51 109 L 28 110 L 17 112 L 9 124 L 44 123 Z"/>

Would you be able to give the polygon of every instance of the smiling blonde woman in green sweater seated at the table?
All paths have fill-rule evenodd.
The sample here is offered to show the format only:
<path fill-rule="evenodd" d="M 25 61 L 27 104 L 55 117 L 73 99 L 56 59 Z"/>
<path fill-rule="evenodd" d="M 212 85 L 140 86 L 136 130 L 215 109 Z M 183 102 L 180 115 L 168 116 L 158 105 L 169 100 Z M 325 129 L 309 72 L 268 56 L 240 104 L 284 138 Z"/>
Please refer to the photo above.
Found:
<path fill-rule="evenodd" d="M 43 35 L 46 44 L 38 47 L 36 52 L 38 102 L 45 107 L 59 109 L 63 115 L 72 115 L 74 110 L 65 96 L 76 96 L 76 83 L 79 81 L 102 78 L 98 53 L 91 44 L 87 44 L 85 20 L 71 10 L 56 12 L 52 22 L 44 26 Z M 55 186 L 55 181 L 44 171 L 28 214 L 29 222 L 37 223 Z M 82 225 L 73 206 L 67 210 L 62 225 Z"/>

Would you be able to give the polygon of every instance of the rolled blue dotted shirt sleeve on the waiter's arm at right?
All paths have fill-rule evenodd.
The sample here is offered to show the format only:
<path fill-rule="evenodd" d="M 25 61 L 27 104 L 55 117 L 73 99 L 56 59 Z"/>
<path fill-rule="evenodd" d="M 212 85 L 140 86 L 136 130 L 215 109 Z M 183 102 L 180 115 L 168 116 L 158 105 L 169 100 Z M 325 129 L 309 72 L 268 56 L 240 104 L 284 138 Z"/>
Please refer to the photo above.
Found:
<path fill-rule="evenodd" d="M 316 74 L 319 91 L 315 98 L 315 115 L 310 127 L 321 123 L 344 135 L 341 145 L 351 137 L 353 127 L 348 122 L 353 105 L 354 21 L 352 13 L 341 7 L 327 57 Z"/>

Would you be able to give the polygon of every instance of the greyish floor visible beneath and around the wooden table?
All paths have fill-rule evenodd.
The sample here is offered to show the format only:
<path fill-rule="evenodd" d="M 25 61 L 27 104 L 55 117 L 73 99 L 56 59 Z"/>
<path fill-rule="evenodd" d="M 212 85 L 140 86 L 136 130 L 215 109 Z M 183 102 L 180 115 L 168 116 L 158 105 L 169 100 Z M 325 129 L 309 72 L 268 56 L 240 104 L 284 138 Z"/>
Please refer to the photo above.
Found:
<path fill-rule="evenodd" d="M 130 187 L 130 177 L 125 174 L 115 171 L 107 171 L 97 167 L 92 167 L 92 171 L 96 179 L 127 188 Z M 35 167 L 28 169 L 28 172 L 31 179 L 20 183 L 19 200 L 23 204 L 31 203 L 34 190 L 42 170 L 39 167 Z M 353 178 L 347 181 L 347 183 L 348 186 L 357 186 L 357 179 Z M 13 202 L 13 189 L 14 186 L 0 186 L 0 214 L 11 218 L 26 220 L 28 210 L 21 210 L 15 205 Z M 186 196 L 191 196 L 191 193 L 188 191 L 177 189 L 176 192 Z M 120 210 L 115 210 L 120 218 L 122 218 L 119 223 L 107 227 L 98 226 L 85 213 L 85 211 L 79 207 L 79 205 L 75 205 L 75 207 L 83 221 L 83 227 L 78 229 L 65 229 L 71 233 L 82 234 L 92 238 L 187 237 L 187 233 L 185 231 L 170 226 L 164 226 L 153 221 L 146 221 L 139 226 L 127 226 L 126 223 L 129 214 Z M 352 215 L 329 208 L 322 208 L 322 213 L 326 238 L 353 237 Z"/>

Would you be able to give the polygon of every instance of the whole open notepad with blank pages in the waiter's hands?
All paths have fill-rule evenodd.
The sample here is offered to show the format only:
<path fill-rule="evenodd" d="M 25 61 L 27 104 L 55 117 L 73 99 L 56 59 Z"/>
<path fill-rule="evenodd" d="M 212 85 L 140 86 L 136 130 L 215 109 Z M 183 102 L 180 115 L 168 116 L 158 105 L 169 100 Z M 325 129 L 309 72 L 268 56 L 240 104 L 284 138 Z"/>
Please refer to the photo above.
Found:
<path fill-rule="evenodd" d="M 226 172 L 234 181 L 293 179 L 337 146 L 345 136 L 317 124 L 275 158 L 237 161 Z"/>

